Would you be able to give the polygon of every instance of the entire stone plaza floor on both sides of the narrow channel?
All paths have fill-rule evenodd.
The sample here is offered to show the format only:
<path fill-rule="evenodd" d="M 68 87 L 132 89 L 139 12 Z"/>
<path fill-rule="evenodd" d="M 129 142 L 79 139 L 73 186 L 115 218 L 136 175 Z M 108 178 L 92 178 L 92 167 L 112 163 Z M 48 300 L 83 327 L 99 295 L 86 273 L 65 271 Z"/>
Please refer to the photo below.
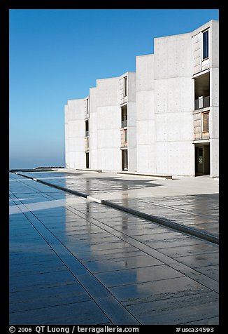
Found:
<path fill-rule="evenodd" d="M 21 174 L 218 236 L 218 180 Z M 218 244 L 10 173 L 10 324 L 218 324 Z"/>

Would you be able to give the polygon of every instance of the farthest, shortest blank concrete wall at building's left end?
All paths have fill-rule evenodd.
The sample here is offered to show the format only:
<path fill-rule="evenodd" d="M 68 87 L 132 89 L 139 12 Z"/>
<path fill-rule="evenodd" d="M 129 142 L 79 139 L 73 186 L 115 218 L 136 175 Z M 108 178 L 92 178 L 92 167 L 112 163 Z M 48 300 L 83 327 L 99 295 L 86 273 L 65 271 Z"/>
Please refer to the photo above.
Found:
<path fill-rule="evenodd" d="M 66 168 L 85 168 L 84 99 L 65 105 Z"/>

